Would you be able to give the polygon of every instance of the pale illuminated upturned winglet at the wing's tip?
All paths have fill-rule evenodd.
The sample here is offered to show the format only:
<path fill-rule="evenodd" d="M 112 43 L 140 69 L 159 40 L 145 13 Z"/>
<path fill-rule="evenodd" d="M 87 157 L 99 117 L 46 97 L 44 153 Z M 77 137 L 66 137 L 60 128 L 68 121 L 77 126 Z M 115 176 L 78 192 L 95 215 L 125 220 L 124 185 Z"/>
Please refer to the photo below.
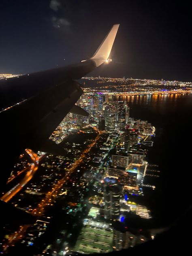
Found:
<path fill-rule="evenodd" d="M 95 62 L 97 67 L 108 60 L 118 28 L 119 24 L 113 25 L 94 55 L 90 58 L 90 60 Z"/>

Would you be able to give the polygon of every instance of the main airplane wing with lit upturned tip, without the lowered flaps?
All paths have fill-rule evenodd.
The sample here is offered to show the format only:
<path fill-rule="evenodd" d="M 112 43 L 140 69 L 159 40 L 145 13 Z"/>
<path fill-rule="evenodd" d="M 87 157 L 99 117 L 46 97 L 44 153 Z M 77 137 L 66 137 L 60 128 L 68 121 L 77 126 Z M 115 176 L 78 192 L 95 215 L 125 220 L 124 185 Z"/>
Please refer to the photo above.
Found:
<path fill-rule="evenodd" d="M 10 107 L 66 80 L 81 79 L 90 73 L 109 58 L 118 28 L 119 24 L 113 25 L 104 41 L 88 60 L 0 81 L 0 109 Z"/>

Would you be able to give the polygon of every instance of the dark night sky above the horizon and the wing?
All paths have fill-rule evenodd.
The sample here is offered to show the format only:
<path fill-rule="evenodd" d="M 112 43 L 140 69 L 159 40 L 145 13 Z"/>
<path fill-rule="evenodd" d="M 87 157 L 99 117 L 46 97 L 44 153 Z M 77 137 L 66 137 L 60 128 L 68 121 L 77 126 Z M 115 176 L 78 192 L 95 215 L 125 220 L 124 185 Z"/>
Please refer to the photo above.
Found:
<path fill-rule="evenodd" d="M 0 73 L 85 60 L 115 23 L 113 62 L 90 75 L 192 81 L 185 0 L 0 0 Z"/>

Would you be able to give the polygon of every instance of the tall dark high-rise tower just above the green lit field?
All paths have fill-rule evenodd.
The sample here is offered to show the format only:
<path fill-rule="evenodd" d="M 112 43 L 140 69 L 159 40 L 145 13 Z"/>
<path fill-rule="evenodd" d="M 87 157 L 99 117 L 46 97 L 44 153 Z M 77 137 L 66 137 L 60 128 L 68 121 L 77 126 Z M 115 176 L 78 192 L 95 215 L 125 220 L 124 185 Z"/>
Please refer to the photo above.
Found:
<path fill-rule="evenodd" d="M 118 184 L 105 186 L 105 218 L 118 219 L 120 213 L 121 187 Z"/>

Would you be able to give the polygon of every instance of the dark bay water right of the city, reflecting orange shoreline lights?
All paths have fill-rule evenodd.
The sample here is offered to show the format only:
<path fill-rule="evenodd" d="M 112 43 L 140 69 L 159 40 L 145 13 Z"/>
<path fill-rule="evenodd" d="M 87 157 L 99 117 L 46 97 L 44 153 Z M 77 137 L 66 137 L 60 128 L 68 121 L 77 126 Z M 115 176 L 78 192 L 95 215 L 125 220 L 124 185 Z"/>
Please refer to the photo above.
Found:
<path fill-rule="evenodd" d="M 150 200 L 164 221 L 179 217 L 192 202 L 192 94 L 122 96 L 110 100 L 126 100 L 130 117 L 155 126 L 149 162 L 160 166 L 161 177 Z"/>

